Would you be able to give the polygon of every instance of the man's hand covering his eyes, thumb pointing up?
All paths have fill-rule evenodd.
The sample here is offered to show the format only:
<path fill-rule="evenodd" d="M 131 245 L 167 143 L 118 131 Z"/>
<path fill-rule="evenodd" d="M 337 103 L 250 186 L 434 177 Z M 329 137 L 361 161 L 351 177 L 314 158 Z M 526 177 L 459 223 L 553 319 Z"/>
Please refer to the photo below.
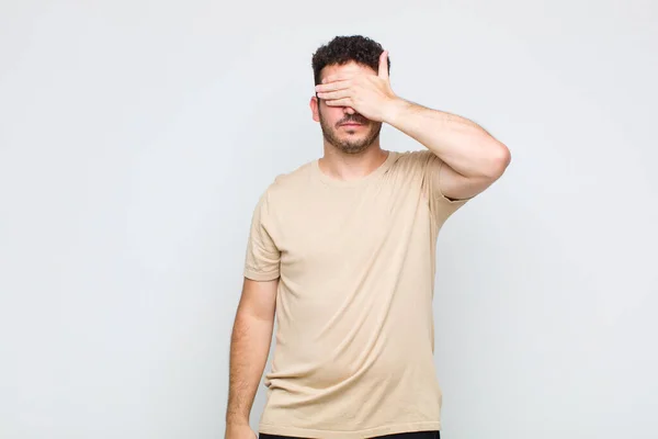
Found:
<path fill-rule="evenodd" d="M 316 86 L 327 105 L 351 106 L 371 121 L 386 122 L 399 98 L 390 89 L 388 52 L 379 56 L 378 75 L 331 75 Z"/>

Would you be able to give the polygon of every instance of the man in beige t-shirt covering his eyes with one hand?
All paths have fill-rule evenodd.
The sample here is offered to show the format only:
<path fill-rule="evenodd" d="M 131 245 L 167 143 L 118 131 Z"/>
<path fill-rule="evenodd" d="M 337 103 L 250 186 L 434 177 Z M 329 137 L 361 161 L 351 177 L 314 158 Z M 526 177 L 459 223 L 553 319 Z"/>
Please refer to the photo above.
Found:
<path fill-rule="evenodd" d="M 249 414 L 277 322 L 265 438 L 439 438 L 432 296 L 439 229 L 510 162 L 480 126 L 396 95 L 378 43 L 313 56 L 324 156 L 279 176 L 253 213 L 230 349 L 227 439 Z M 426 149 L 383 150 L 383 123 Z"/>

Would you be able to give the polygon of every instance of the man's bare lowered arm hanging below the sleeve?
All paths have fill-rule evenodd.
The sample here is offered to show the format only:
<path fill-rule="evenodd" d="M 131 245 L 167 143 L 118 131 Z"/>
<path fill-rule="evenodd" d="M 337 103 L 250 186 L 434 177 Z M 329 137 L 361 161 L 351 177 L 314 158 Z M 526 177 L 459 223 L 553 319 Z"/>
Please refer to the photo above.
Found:
<path fill-rule="evenodd" d="M 270 352 L 277 286 L 279 279 L 245 278 L 230 341 L 226 439 L 257 438 L 249 415 Z"/>

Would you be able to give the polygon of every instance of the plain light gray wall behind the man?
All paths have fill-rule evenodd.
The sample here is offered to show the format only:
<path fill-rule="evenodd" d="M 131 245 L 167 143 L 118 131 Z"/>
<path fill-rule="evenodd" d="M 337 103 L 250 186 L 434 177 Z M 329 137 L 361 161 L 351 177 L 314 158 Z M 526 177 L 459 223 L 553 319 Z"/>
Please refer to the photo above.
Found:
<path fill-rule="evenodd" d="M 0 437 L 224 436 L 252 209 L 321 155 L 313 52 L 363 34 L 394 91 L 513 156 L 439 238 L 442 437 L 656 438 L 657 18 L 649 0 L 2 0 Z M 422 148 L 390 126 L 383 147 Z"/>

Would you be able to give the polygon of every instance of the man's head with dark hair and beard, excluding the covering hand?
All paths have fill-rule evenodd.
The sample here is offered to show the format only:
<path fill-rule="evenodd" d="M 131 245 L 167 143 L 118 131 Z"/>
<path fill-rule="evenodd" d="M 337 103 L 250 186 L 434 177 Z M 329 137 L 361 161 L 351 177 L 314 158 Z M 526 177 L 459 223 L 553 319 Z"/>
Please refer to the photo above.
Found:
<path fill-rule="evenodd" d="M 336 74 L 377 75 L 382 45 L 361 35 L 337 36 L 313 55 L 315 85 Z M 388 60 L 390 69 L 390 60 Z M 349 106 L 327 105 L 324 100 L 310 99 L 313 119 L 320 123 L 325 139 L 348 154 L 358 154 L 379 136 L 382 123 L 365 119 Z M 359 125 L 345 125 L 356 123 Z"/>

